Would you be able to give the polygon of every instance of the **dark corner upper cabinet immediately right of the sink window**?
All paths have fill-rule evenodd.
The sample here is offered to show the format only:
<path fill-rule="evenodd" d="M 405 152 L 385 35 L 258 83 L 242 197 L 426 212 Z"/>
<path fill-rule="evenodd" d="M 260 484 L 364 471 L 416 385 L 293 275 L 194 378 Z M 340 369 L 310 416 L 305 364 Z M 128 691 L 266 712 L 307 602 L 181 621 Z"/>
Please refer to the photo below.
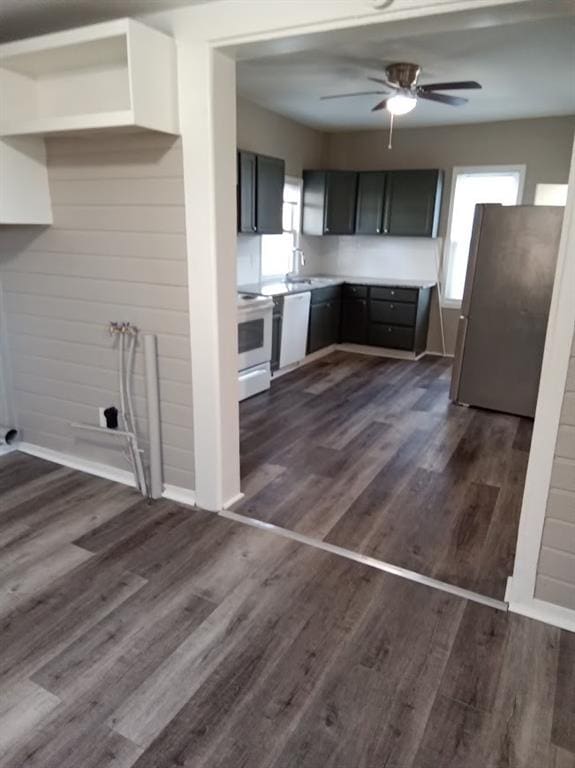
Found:
<path fill-rule="evenodd" d="M 352 235 L 356 197 L 355 171 L 304 171 L 304 234 Z"/>

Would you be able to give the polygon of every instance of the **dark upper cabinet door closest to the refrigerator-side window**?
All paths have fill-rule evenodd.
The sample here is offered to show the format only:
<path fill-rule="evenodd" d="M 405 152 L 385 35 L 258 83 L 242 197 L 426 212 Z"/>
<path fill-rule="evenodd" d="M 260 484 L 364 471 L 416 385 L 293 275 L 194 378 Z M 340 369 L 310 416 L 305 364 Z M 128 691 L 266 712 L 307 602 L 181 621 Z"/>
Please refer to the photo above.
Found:
<path fill-rule="evenodd" d="M 440 171 L 391 171 L 388 174 L 384 233 L 435 237 L 441 187 Z"/>

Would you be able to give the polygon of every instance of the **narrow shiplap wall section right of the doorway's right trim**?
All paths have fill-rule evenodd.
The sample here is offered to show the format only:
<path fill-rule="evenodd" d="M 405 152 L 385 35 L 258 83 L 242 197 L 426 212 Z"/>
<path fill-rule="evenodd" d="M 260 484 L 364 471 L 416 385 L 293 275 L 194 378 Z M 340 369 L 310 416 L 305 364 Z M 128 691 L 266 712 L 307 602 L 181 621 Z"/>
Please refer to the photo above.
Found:
<path fill-rule="evenodd" d="M 575 610 L 575 338 L 555 446 L 535 597 Z"/>

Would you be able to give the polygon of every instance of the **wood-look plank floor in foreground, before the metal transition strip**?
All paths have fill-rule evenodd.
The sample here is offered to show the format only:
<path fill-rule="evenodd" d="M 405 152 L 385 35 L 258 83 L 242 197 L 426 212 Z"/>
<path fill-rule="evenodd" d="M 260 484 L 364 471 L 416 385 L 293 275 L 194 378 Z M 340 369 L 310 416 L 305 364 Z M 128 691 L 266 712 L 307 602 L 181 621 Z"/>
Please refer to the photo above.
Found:
<path fill-rule="evenodd" d="M 13 454 L 2 768 L 573 768 L 575 635 Z"/>

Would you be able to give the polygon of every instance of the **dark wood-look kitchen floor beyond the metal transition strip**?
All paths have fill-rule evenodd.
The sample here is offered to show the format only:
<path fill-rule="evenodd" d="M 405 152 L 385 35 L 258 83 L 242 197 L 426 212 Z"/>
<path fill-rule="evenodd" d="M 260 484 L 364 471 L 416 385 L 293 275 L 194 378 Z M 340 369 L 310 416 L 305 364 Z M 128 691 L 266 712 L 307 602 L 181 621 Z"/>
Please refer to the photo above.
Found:
<path fill-rule="evenodd" d="M 449 402 L 450 362 L 347 352 L 241 404 L 235 511 L 503 599 L 531 421 Z"/>

